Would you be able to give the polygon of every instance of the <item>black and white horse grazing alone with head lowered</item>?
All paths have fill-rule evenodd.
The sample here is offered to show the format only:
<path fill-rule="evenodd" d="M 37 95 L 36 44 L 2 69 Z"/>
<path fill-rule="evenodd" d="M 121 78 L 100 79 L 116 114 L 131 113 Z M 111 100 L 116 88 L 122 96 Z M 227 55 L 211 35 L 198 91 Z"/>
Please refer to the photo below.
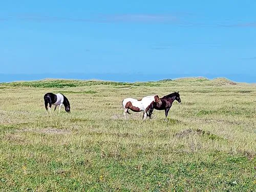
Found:
<path fill-rule="evenodd" d="M 51 112 L 52 105 L 55 105 L 54 111 L 56 110 L 57 106 L 59 105 L 59 111 L 62 105 L 65 106 L 65 111 L 68 113 L 70 112 L 70 104 L 69 100 L 61 93 L 53 94 L 51 92 L 46 93 L 44 96 L 45 100 L 45 107 L 48 112 L 48 103 L 49 103 L 49 111 Z"/>

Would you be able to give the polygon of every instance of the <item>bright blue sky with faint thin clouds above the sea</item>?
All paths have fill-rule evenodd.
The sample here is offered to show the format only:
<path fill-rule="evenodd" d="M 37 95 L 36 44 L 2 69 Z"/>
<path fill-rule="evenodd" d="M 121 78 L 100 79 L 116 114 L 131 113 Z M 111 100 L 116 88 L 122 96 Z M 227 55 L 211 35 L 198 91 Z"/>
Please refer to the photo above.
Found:
<path fill-rule="evenodd" d="M 1 1 L 0 74 L 256 74 L 256 1 Z"/>

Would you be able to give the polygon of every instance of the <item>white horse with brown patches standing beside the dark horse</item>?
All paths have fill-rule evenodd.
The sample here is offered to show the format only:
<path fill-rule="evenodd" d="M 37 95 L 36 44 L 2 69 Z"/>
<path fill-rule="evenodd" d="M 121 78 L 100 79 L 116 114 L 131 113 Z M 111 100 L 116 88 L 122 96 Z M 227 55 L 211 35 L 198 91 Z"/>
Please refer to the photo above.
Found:
<path fill-rule="evenodd" d="M 161 103 L 158 95 L 151 95 L 136 100 L 133 98 L 126 98 L 122 101 L 124 108 L 123 116 L 126 119 L 126 113 L 131 114 L 128 110 L 131 109 L 134 112 L 144 111 L 142 119 L 146 119 L 148 107 L 153 103 Z"/>

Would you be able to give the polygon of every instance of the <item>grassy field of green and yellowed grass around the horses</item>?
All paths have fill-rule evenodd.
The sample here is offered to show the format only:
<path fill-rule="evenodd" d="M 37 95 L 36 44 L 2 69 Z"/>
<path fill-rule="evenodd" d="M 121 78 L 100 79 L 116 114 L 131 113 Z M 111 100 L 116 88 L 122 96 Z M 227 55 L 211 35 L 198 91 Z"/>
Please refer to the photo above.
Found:
<path fill-rule="evenodd" d="M 164 121 L 127 115 L 124 98 L 180 92 Z M 46 92 L 71 113 L 49 116 Z M 255 191 L 256 84 L 189 78 L 145 83 L 0 84 L 2 191 Z"/>

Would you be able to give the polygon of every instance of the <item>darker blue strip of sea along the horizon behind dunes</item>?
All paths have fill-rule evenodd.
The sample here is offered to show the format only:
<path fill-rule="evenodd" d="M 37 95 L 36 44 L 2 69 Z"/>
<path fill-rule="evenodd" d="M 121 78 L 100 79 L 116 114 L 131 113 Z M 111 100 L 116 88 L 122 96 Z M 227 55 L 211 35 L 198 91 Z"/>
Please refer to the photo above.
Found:
<path fill-rule="evenodd" d="M 117 82 L 143 82 L 143 81 L 158 81 L 162 79 L 176 79 L 184 77 L 206 77 L 214 79 L 218 77 L 225 77 L 235 82 L 256 83 L 256 75 L 210 75 L 210 74 L 0 74 L 0 82 L 13 81 L 31 81 L 42 80 L 46 78 L 53 79 L 76 79 L 76 80 L 104 80 Z"/>

